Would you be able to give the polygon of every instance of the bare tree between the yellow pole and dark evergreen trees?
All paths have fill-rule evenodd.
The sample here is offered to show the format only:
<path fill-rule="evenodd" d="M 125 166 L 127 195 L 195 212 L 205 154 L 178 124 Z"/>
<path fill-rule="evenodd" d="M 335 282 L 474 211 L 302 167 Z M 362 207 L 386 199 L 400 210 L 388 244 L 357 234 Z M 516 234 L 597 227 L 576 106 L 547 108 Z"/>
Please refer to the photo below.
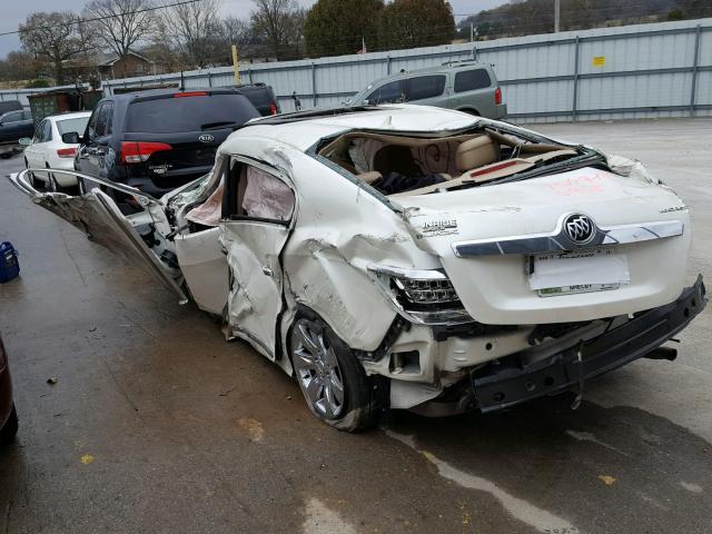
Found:
<path fill-rule="evenodd" d="M 295 0 L 254 0 L 254 2 L 255 10 L 250 18 L 255 32 L 266 39 L 277 59 L 283 59 L 287 46 L 295 36 L 297 2 Z M 303 20 L 304 16 L 299 18 Z"/>

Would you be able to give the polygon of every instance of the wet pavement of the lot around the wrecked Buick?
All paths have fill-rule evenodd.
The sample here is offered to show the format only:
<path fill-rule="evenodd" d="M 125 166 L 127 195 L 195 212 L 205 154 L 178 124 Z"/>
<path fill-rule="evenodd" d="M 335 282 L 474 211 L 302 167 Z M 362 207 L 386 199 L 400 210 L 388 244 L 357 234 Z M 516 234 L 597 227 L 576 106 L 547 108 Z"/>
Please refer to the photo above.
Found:
<path fill-rule="evenodd" d="M 689 280 L 712 276 L 712 120 L 536 129 L 645 161 L 692 208 Z M 4 179 L 21 166 L 0 160 L 0 240 L 22 269 L 0 285 L 20 415 L 0 533 L 712 532 L 712 307 L 676 362 L 609 374 L 578 411 L 343 434 L 210 317 L 32 206 Z"/>

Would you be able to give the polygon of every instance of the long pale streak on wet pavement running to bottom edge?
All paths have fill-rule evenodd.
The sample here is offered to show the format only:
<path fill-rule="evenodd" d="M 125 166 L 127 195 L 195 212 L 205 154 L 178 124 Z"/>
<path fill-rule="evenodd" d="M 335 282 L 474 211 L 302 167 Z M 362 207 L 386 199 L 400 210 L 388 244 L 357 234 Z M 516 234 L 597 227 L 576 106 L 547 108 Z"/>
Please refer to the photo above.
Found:
<path fill-rule="evenodd" d="M 393 431 L 385 431 L 386 434 L 394 439 L 398 439 L 402 443 L 405 443 L 408 447 L 413 448 L 417 453 L 422 454 L 425 458 L 427 458 L 433 465 L 437 467 L 438 473 L 444 478 L 452 481 L 463 487 L 467 487 L 469 490 L 477 490 L 481 492 L 487 492 L 492 496 L 494 496 L 502 506 L 515 518 L 533 526 L 538 532 L 543 533 L 552 533 L 556 532 L 558 534 L 578 534 L 578 528 L 572 525 L 568 521 L 563 517 L 558 517 L 551 512 L 542 510 L 522 498 L 515 497 L 514 495 L 508 494 L 495 483 L 487 481 L 481 476 L 471 475 L 469 473 L 465 473 L 464 471 L 457 469 L 453 467 L 447 462 L 438 458 L 434 454 L 418 449 L 415 446 L 415 442 L 412 436 L 406 436 L 403 434 L 395 433 Z"/>

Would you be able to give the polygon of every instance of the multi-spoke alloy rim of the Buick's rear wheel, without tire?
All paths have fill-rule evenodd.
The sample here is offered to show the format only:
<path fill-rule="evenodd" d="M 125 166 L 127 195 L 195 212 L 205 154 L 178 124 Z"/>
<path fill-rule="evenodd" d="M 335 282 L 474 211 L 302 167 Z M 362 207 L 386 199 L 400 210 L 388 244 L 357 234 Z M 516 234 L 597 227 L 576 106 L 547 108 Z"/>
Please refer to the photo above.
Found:
<path fill-rule="evenodd" d="M 318 323 L 299 319 L 291 333 L 293 365 L 312 409 L 320 417 L 337 418 L 344 411 L 342 369 L 334 348 Z"/>

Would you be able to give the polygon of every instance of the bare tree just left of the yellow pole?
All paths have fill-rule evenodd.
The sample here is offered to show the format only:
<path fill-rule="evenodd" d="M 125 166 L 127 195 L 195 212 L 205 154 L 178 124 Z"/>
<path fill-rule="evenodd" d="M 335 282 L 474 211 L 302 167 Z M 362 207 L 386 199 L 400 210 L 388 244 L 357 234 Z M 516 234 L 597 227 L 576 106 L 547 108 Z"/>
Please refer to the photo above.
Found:
<path fill-rule="evenodd" d="M 201 0 L 161 10 L 157 40 L 176 47 L 192 67 L 210 65 L 218 51 L 219 4 L 219 0 Z"/>

